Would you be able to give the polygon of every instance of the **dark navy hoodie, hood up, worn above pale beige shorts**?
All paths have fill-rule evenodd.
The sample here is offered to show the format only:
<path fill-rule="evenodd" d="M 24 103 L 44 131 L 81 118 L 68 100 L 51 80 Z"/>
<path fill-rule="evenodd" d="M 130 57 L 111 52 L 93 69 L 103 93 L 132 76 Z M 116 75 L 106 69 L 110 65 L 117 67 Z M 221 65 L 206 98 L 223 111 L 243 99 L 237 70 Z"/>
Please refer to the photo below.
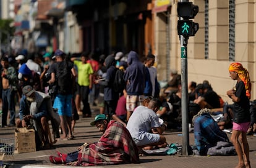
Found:
<path fill-rule="evenodd" d="M 129 66 L 124 73 L 127 95 L 143 95 L 146 67 L 139 61 L 139 56 L 134 51 L 129 52 L 127 63 Z"/>

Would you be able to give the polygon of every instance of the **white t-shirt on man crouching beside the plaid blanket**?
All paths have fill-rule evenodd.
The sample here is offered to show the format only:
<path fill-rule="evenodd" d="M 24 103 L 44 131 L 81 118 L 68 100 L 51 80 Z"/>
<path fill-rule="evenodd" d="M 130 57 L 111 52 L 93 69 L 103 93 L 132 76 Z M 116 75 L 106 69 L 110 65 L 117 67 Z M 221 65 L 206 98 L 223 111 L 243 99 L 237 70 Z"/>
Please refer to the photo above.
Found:
<path fill-rule="evenodd" d="M 156 127 L 161 127 L 158 116 L 155 111 L 145 106 L 137 106 L 135 108 L 126 126 L 132 138 L 137 140 L 142 140 L 145 132 L 149 132 L 152 128 Z"/>

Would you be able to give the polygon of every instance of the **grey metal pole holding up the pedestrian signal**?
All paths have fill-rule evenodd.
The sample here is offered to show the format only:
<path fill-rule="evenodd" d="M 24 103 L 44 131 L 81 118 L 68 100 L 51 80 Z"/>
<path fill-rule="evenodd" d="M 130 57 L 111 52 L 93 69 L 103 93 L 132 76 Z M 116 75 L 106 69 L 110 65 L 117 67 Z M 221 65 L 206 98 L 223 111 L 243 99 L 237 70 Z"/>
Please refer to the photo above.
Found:
<path fill-rule="evenodd" d="M 189 2 L 181 0 L 181 2 Z M 182 155 L 188 156 L 189 148 L 189 115 L 187 91 L 187 37 L 181 37 L 181 115 L 182 115 Z"/>

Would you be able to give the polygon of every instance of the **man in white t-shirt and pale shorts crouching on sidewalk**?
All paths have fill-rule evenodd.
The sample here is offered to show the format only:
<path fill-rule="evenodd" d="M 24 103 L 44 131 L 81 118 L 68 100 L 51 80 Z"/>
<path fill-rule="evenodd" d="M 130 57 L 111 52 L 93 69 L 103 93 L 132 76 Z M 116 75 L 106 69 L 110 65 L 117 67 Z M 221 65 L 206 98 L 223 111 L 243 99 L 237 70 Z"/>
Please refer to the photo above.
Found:
<path fill-rule="evenodd" d="M 139 148 L 151 150 L 153 146 L 165 148 L 166 138 L 161 135 L 167 125 L 160 124 L 156 111 L 160 106 L 158 98 L 152 98 L 148 105 L 138 106 L 130 116 L 127 129 Z M 153 133 L 150 133 L 153 132 Z M 145 148 L 147 146 L 147 148 Z"/>

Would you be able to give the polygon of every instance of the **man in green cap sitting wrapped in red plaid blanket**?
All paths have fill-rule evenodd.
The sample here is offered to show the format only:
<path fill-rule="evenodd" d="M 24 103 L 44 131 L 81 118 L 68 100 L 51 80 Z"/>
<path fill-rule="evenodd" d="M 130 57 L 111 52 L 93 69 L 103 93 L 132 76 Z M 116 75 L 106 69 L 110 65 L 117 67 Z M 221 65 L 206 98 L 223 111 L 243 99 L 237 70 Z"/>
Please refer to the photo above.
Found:
<path fill-rule="evenodd" d="M 96 143 L 87 144 L 70 155 L 58 152 L 59 157 L 49 156 L 54 164 L 72 164 L 74 166 L 93 166 L 124 163 L 139 163 L 139 152 L 129 131 L 120 122 L 108 121 L 105 114 L 98 114 L 91 122 L 103 135 Z"/>

